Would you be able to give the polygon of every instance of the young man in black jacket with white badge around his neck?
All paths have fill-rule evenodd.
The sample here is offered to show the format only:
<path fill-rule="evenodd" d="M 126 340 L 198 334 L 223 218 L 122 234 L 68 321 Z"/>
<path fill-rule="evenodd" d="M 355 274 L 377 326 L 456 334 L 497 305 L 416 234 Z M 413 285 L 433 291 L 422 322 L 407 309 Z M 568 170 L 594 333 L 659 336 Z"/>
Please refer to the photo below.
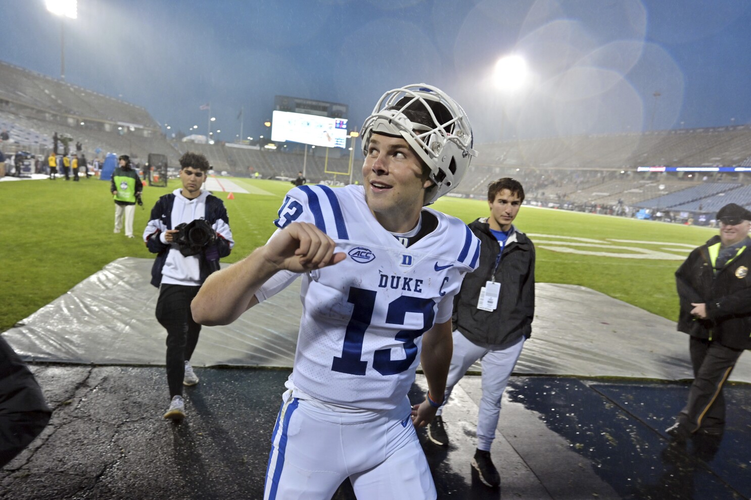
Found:
<path fill-rule="evenodd" d="M 512 224 L 523 201 L 519 181 L 501 178 L 490 183 L 490 217 L 469 225 L 481 241 L 480 264 L 466 275 L 454 298 L 454 354 L 443 405 L 466 370 L 482 359 L 478 447 L 472 466 L 489 487 L 500 484 L 490 445 L 496 437 L 501 397 L 524 341 L 532 334 L 535 314 L 535 246 Z M 441 412 L 442 408 L 428 426 L 428 436 L 437 445 L 448 445 Z"/>

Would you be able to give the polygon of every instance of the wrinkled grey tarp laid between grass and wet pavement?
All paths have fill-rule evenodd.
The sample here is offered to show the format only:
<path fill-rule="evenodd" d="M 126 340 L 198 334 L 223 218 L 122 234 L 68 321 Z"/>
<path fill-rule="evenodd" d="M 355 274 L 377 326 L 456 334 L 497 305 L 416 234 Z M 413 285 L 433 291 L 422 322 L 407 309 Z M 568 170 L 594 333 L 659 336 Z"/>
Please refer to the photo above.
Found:
<path fill-rule="evenodd" d="M 35 361 L 164 364 L 151 265 L 131 257 L 110 262 L 3 335 Z M 232 325 L 204 327 L 193 364 L 291 367 L 299 283 Z M 674 322 L 582 286 L 537 283 L 536 295 L 532 338 L 514 373 L 692 378 L 688 337 Z M 731 379 L 751 382 L 751 358 L 740 358 Z"/>

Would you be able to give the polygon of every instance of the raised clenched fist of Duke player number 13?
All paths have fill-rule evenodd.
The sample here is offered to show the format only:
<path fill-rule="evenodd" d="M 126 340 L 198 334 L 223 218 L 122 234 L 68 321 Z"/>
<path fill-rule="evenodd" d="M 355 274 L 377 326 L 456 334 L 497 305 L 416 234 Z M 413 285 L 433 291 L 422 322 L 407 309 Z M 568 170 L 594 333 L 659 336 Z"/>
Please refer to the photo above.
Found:
<path fill-rule="evenodd" d="M 315 224 L 294 222 L 276 233 L 264 247 L 264 259 L 295 273 L 324 268 L 345 259 L 334 253 L 336 243 Z"/>

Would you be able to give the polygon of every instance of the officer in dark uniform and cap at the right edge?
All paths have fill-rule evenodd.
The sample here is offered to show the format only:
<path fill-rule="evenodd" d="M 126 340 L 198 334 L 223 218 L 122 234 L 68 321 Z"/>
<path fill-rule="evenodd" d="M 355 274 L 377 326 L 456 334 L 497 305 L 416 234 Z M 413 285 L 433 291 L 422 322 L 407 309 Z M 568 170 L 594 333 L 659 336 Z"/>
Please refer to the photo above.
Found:
<path fill-rule="evenodd" d="M 717 212 L 719 236 L 695 248 L 675 272 L 678 330 L 689 334 L 694 382 L 675 424 L 676 439 L 721 436 L 722 385 L 744 349 L 751 349 L 751 211 L 729 203 Z"/>

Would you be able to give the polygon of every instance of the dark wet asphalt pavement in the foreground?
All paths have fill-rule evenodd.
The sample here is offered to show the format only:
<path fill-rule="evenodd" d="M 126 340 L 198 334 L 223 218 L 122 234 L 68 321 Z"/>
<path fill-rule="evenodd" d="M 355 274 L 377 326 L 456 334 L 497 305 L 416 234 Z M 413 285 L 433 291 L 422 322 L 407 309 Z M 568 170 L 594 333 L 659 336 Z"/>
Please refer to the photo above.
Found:
<path fill-rule="evenodd" d="M 289 370 L 198 368 L 187 418 L 164 421 L 161 367 L 35 364 L 50 424 L 0 469 L 2 499 L 261 499 L 270 436 Z M 420 400 L 418 375 L 411 399 Z M 480 379 L 444 412 L 448 448 L 421 441 L 439 499 L 749 499 L 751 386 L 726 388 L 722 439 L 671 445 L 662 430 L 685 383 L 514 376 L 493 445 L 502 488 L 481 484 Z M 354 499 L 343 484 L 336 500 Z"/>

